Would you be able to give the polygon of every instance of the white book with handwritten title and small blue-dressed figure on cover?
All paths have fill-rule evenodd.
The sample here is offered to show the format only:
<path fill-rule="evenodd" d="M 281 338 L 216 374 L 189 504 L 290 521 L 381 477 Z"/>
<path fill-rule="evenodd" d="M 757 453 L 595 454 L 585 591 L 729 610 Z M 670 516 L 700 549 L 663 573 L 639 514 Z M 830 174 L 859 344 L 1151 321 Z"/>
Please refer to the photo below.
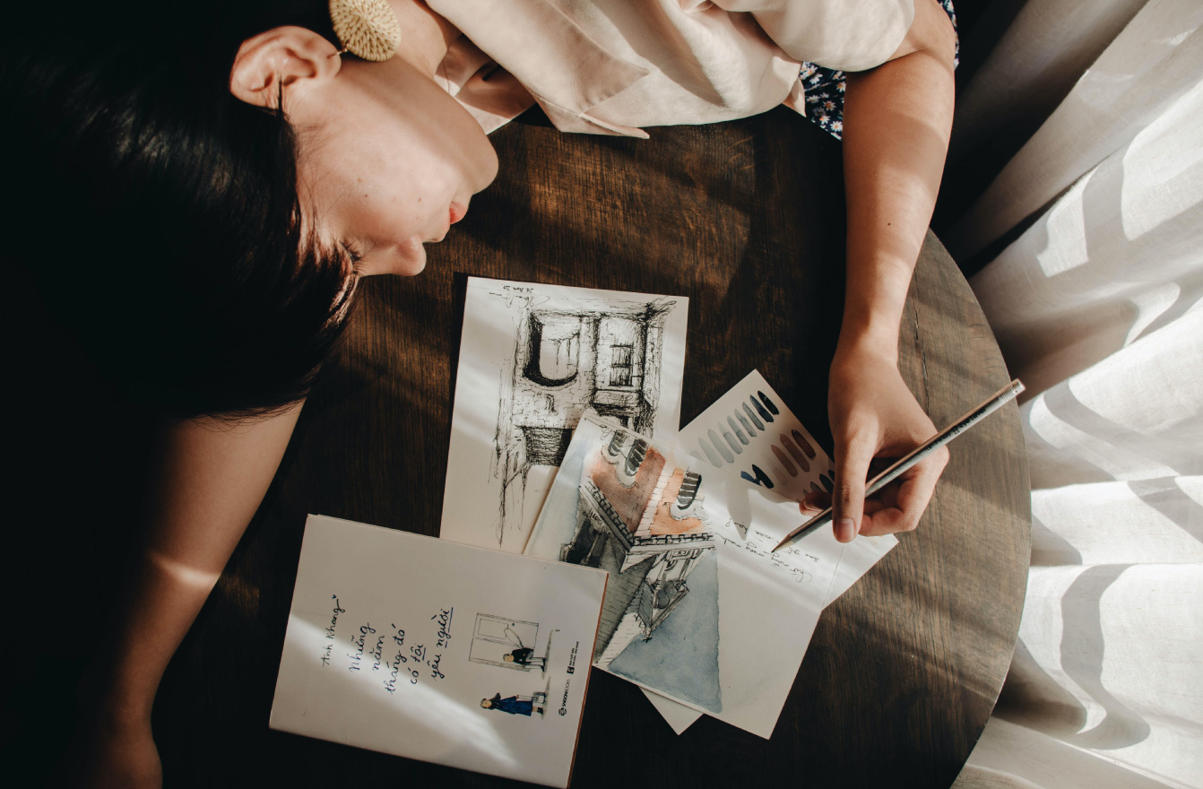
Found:
<path fill-rule="evenodd" d="M 605 585 L 310 515 L 271 726 L 567 787 Z"/>

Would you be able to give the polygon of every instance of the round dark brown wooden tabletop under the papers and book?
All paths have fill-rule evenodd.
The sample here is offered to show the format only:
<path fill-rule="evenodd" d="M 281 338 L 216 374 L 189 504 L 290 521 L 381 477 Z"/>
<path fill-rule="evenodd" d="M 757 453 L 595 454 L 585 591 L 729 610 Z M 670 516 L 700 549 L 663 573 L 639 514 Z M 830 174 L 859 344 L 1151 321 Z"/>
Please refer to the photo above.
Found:
<path fill-rule="evenodd" d="M 167 785 L 509 783 L 267 729 L 304 515 L 438 532 L 467 275 L 688 296 L 683 420 L 757 368 L 830 451 L 837 143 L 778 111 L 651 141 L 520 121 L 494 144 L 496 184 L 426 272 L 361 287 L 346 342 L 164 682 Z M 937 425 L 1008 378 L 934 237 L 900 343 Z M 709 718 L 677 737 L 638 689 L 594 671 L 573 785 L 948 785 L 1009 664 L 1029 523 L 1011 405 L 953 445 L 919 529 L 823 615 L 771 740 Z"/>

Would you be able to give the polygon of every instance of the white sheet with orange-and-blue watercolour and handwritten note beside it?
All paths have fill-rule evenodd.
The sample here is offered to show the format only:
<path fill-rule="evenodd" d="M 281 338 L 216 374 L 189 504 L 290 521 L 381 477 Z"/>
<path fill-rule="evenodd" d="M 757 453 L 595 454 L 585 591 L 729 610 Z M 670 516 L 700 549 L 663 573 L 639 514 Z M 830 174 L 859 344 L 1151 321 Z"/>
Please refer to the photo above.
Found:
<path fill-rule="evenodd" d="M 585 416 L 527 553 L 610 571 L 594 665 L 768 737 L 843 546 L 770 554 L 796 504 L 695 468 Z"/>

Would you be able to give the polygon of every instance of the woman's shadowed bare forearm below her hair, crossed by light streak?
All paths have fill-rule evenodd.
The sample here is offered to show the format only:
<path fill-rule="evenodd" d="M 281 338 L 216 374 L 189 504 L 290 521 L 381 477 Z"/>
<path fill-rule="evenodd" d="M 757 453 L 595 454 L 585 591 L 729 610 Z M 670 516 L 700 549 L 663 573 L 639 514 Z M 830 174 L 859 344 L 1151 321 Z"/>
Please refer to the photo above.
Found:
<path fill-rule="evenodd" d="M 265 419 L 164 428 L 149 528 L 97 683 L 87 785 L 161 783 L 150 735 L 159 681 L 267 492 L 300 413 L 296 404 Z"/>

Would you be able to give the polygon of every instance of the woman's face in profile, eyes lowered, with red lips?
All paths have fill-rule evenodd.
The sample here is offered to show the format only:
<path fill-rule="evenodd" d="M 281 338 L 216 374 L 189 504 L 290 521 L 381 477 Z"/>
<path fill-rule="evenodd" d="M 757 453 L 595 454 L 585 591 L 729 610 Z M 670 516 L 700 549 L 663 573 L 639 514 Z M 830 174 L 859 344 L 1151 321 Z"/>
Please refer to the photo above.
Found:
<path fill-rule="evenodd" d="M 285 106 L 298 136 L 298 192 L 332 247 L 360 274 L 416 274 L 497 176 L 475 119 L 402 58 L 345 59 L 320 91 Z"/>

